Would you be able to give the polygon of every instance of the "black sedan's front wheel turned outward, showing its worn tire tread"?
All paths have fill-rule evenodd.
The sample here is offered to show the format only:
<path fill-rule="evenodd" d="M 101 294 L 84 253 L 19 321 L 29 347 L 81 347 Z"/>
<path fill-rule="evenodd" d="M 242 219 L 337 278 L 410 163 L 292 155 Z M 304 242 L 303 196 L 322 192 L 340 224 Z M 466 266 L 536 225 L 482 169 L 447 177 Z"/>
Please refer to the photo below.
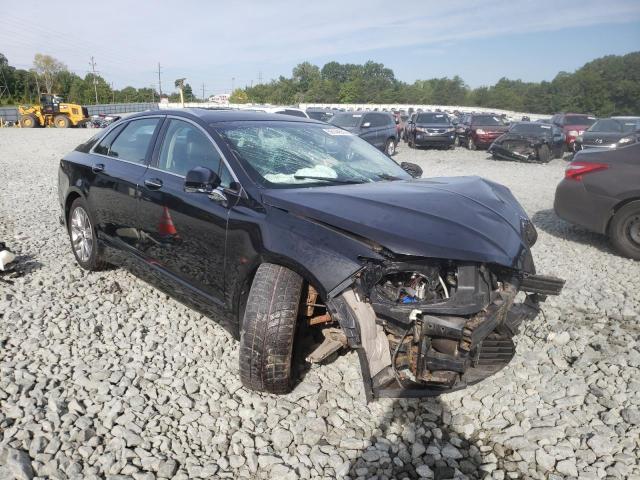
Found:
<path fill-rule="evenodd" d="M 258 267 L 240 332 L 240 379 L 245 387 L 270 393 L 291 390 L 302 284 L 300 275 L 281 265 Z"/>

